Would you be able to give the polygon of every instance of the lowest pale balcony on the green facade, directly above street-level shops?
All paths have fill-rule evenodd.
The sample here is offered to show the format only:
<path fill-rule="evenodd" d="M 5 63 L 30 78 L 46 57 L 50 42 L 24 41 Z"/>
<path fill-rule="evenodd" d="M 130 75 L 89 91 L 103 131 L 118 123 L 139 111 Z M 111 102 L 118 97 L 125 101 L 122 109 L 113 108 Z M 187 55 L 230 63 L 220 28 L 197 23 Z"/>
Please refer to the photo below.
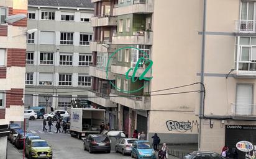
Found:
<path fill-rule="evenodd" d="M 121 105 L 127 106 L 135 110 L 150 110 L 150 97 L 140 97 L 140 96 L 120 97 L 115 92 L 116 90 L 111 90 L 111 93 L 110 93 L 111 101 L 114 101 L 115 103 L 119 103 Z M 112 96 L 118 96 L 118 97 L 112 97 Z"/>

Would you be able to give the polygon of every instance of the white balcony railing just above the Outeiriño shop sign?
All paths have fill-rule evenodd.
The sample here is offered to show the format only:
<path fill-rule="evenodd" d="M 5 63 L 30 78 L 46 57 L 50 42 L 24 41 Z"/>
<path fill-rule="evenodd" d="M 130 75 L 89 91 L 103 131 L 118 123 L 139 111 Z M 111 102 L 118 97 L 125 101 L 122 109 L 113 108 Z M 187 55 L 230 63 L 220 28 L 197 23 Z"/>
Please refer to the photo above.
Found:
<path fill-rule="evenodd" d="M 256 116 L 256 105 L 231 103 L 232 116 Z"/>

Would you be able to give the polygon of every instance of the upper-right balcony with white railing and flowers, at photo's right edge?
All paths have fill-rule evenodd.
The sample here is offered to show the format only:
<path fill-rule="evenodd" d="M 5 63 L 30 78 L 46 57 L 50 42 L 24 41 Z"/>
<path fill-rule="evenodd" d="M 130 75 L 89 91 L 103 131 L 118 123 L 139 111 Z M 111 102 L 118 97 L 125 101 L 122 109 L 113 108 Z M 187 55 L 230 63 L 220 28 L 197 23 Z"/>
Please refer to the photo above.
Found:
<path fill-rule="evenodd" d="M 256 33 L 255 20 L 236 20 L 235 33 Z"/>

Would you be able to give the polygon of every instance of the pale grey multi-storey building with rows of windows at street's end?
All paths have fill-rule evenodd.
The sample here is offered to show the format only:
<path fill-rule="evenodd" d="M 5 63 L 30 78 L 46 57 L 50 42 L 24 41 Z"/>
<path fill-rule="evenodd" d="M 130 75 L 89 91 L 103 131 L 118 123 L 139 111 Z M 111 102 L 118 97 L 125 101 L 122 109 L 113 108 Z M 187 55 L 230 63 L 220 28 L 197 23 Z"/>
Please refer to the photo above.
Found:
<path fill-rule="evenodd" d="M 38 31 L 27 36 L 25 106 L 70 108 L 91 89 L 94 8 L 80 2 L 29 1 L 28 28 Z"/>

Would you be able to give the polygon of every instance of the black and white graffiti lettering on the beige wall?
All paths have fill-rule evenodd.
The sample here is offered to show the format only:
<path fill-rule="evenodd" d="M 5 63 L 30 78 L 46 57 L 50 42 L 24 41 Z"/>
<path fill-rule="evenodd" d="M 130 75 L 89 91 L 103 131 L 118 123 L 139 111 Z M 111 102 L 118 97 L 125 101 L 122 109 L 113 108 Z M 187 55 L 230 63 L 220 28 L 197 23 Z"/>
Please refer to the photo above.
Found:
<path fill-rule="evenodd" d="M 173 131 L 176 130 L 178 132 L 187 132 L 190 131 L 192 132 L 193 129 L 197 129 L 197 131 L 199 132 L 199 123 L 198 121 L 172 121 L 169 120 L 166 122 L 167 124 L 167 128 L 169 131 Z"/>

